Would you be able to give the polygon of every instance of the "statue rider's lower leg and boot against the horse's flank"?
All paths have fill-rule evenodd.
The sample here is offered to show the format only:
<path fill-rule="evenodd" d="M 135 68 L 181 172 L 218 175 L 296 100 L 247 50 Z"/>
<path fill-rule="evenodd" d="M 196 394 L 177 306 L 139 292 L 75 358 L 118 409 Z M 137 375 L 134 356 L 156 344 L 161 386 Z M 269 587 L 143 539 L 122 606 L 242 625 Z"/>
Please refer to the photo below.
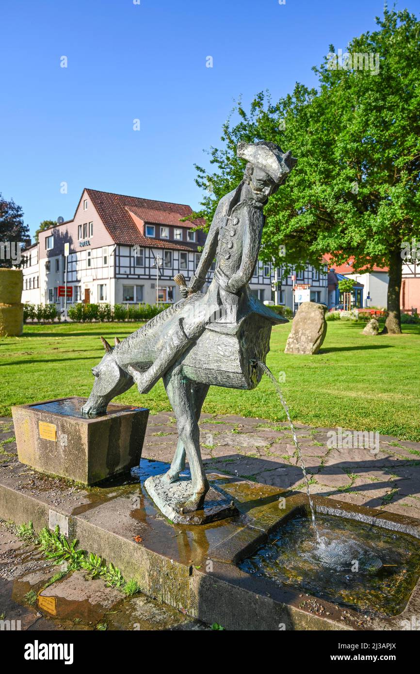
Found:
<path fill-rule="evenodd" d="M 140 372 L 133 365 L 129 365 L 127 371 L 136 382 L 139 393 L 148 393 L 193 341 L 185 334 L 181 321 L 177 321 L 169 330 L 158 357 L 146 372 Z"/>

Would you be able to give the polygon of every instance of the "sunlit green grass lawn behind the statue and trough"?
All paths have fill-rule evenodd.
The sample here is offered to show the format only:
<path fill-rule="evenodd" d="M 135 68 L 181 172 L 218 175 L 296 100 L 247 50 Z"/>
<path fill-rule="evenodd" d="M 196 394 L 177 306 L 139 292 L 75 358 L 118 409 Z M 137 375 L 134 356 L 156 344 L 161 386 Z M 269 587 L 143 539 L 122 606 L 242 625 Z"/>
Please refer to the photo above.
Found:
<path fill-rule="evenodd" d="M 104 353 L 100 335 L 113 343 L 138 324 L 25 326 L 22 337 L 0 338 L 0 415 L 12 404 L 65 396 L 88 396 L 90 369 Z M 367 337 L 363 324 L 328 323 L 317 356 L 283 353 L 291 324 L 272 332 L 267 365 L 282 384 L 295 421 L 323 427 L 379 431 L 420 441 L 420 328 L 400 336 Z M 146 396 L 131 388 L 118 402 L 142 404 L 152 412 L 170 409 L 162 381 Z M 253 391 L 212 386 L 205 412 L 284 421 L 274 388 L 263 377 Z"/>

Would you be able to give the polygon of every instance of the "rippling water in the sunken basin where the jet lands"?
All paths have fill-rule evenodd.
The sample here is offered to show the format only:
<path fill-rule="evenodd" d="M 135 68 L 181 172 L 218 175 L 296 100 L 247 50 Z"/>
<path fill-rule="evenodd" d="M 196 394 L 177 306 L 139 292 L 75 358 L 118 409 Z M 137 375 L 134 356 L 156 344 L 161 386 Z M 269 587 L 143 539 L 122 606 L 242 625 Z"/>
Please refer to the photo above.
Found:
<path fill-rule="evenodd" d="M 398 615 L 420 575 L 419 541 L 340 517 L 318 522 L 320 543 L 311 520 L 295 517 L 239 568 L 355 611 Z"/>

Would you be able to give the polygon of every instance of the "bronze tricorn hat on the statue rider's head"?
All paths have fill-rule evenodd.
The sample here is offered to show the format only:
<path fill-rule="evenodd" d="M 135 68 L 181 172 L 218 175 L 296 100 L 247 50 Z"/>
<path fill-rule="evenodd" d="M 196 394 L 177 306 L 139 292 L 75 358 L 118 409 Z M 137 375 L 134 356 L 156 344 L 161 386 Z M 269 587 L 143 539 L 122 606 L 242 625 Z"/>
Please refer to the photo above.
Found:
<path fill-rule="evenodd" d="M 266 140 L 258 143 L 241 141 L 237 145 L 236 154 L 253 166 L 266 171 L 276 183 L 281 183 L 297 163 L 297 159 L 292 156 L 290 150 L 284 153 L 278 145 Z"/>

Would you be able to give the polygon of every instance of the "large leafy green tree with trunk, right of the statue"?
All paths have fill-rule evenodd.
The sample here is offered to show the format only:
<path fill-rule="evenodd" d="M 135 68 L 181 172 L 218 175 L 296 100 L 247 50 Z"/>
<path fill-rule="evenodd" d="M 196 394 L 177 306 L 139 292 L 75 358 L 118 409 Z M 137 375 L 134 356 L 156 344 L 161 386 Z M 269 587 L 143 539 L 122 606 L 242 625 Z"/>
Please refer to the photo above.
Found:
<path fill-rule="evenodd" d="M 239 101 L 211 148 L 214 172 L 196 166 L 206 190 L 202 216 L 210 224 L 217 202 L 238 184 L 244 164 L 239 140 L 270 140 L 291 150 L 298 164 L 270 197 L 261 257 L 291 266 L 353 258 L 355 271 L 389 268 L 384 332 L 400 332 L 402 245 L 420 238 L 420 23 L 409 11 L 385 11 L 378 30 L 354 38 L 339 67 L 330 53 L 318 88 L 296 84 L 272 102 L 261 92 L 249 111 Z M 336 68 L 334 68 L 334 63 Z M 361 65 L 364 69 L 361 69 Z M 286 246 L 282 257 L 280 245 Z"/>

